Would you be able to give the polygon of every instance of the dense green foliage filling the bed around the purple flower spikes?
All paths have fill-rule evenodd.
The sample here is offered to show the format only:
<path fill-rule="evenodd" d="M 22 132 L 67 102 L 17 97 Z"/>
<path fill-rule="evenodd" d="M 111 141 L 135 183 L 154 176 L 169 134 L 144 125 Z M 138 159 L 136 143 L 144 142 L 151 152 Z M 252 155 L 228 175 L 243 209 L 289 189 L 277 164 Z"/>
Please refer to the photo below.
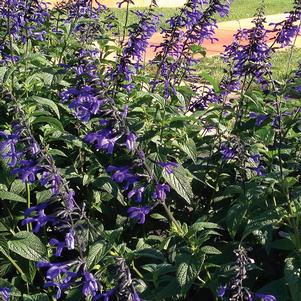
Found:
<path fill-rule="evenodd" d="M 165 63 L 184 63 L 175 72 L 178 76 L 168 75 L 172 85 L 166 88 L 157 71 L 164 56 L 152 67 L 141 61 L 139 67 L 131 65 L 131 56 L 128 73 L 120 71 L 128 44 L 122 32 L 114 32 L 117 27 L 108 26 L 117 22 L 109 12 L 66 22 L 68 10 L 60 9 L 50 12 L 41 41 L 28 31 L 25 42 L 11 35 L 1 52 L 0 289 L 7 288 L 11 300 L 51 300 L 57 288 L 44 286 L 51 277 L 37 262 L 71 262 L 70 270 L 79 276 L 62 288 L 59 299 L 98 300 L 97 291 L 99 300 L 107 301 L 99 294 L 115 288 L 110 300 L 212 301 L 228 285 L 224 298 L 239 301 L 229 299 L 229 286 L 240 279 L 248 300 L 260 300 L 262 293 L 278 301 L 300 301 L 300 70 L 277 80 L 273 71 L 266 73 L 267 89 L 253 84 L 254 69 L 248 67 L 240 89 L 226 91 L 223 80 L 232 74 L 235 60 L 225 64 L 220 83 L 200 69 L 202 61 L 193 65 L 197 77 L 191 78 L 185 75 L 189 65 L 182 56 L 167 56 Z M 1 36 L 6 37 L 1 18 Z M 134 24 L 129 32 L 137 34 L 137 28 Z M 194 44 L 188 52 L 202 54 L 203 49 Z M 291 70 L 292 52 L 287 53 L 283 68 Z M 262 65 L 256 66 L 258 71 Z M 154 77 L 162 79 L 155 88 Z M 70 95 L 62 96 L 87 86 L 104 102 L 104 109 L 91 110 L 88 117 L 76 111 L 78 103 L 70 105 Z M 206 102 L 200 91 L 207 89 L 219 101 Z M 53 183 L 44 183 L 40 171 L 33 180 L 28 170 L 12 172 L 12 149 L 5 142 L 16 124 L 22 128 L 21 138 L 14 138 L 19 139 L 20 156 L 27 141 L 36 141 L 39 168 L 49 172 L 45 166 L 54 166 L 64 179 L 59 193 L 53 193 Z M 114 151 L 104 142 L 111 136 L 98 149 L 87 139 L 107 124 L 119 135 Z M 130 140 L 129 133 L 137 139 Z M 174 165 L 164 165 L 170 162 Z M 129 186 L 145 187 L 142 200 L 135 201 L 124 187 L 130 172 L 121 180 L 117 173 L 123 171 L 112 166 L 135 173 L 140 182 Z M 158 184 L 169 185 L 166 198 L 157 191 Z M 75 192 L 79 209 L 74 215 L 64 207 L 61 189 L 66 187 Z M 48 220 L 35 232 L 35 222 L 22 222 L 24 211 L 45 202 L 51 204 L 45 209 L 49 216 L 60 212 L 59 222 Z M 151 207 L 146 220 L 129 218 L 128 208 L 141 205 Z M 56 257 L 50 239 L 64 242 L 66 225 L 75 246 L 67 241 L 68 248 Z M 243 258 L 245 262 L 239 261 Z M 123 259 L 128 267 L 120 263 Z M 123 290 L 120 271 L 131 273 Z M 85 284 L 94 283 L 85 278 L 88 272 L 96 279 L 95 292 L 85 291 Z M 64 278 L 56 274 L 53 279 Z M 135 289 L 141 299 L 126 299 L 124 291 Z"/>

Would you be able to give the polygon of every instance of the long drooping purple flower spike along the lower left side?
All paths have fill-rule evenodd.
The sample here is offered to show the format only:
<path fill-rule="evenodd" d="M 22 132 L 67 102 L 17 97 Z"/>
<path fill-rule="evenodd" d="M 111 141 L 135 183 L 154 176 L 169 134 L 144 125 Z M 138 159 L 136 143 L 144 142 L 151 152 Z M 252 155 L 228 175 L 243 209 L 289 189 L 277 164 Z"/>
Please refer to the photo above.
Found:
<path fill-rule="evenodd" d="M 12 101 L 14 98 L 11 96 Z M 84 218 L 84 212 L 75 202 L 75 192 L 60 175 L 53 158 L 42 149 L 26 123 L 26 116 L 20 107 L 16 115 L 19 122 L 13 124 L 12 133 L 1 132 L 4 138 L 0 142 L 1 156 L 12 168 L 12 173 L 22 179 L 24 183 L 40 184 L 51 190 L 51 196 L 43 203 L 39 203 L 25 210 L 22 225 L 33 224 L 33 232 L 41 228 L 52 227 L 59 233 L 62 240 L 51 238 L 49 244 L 56 249 L 54 255 L 61 257 L 64 250 L 78 250 L 79 258 L 70 262 L 40 262 L 38 267 L 46 268 L 45 287 L 54 287 L 56 299 L 69 289 L 78 279 L 82 279 L 83 294 L 96 294 L 98 286 L 93 275 L 82 269 L 85 261 L 82 256 L 83 246 L 77 238 L 74 220 Z"/>

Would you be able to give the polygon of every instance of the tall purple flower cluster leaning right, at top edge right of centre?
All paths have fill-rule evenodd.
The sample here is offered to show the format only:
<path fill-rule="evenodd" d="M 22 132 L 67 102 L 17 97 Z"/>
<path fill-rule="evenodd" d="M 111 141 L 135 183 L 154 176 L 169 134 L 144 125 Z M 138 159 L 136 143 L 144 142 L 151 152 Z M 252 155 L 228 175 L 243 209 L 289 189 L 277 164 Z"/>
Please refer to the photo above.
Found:
<path fill-rule="evenodd" d="M 157 47 L 160 49 L 160 63 L 153 81 L 153 90 L 163 83 L 167 98 L 170 91 L 174 91 L 176 83 L 191 75 L 192 65 L 197 62 L 193 57 L 193 46 L 202 45 L 205 40 L 215 40 L 215 15 L 226 16 L 230 3 L 231 1 L 221 0 L 190 0 L 179 15 L 168 21 L 170 26 L 162 29 L 163 42 Z M 154 63 L 157 63 L 156 59 Z"/>

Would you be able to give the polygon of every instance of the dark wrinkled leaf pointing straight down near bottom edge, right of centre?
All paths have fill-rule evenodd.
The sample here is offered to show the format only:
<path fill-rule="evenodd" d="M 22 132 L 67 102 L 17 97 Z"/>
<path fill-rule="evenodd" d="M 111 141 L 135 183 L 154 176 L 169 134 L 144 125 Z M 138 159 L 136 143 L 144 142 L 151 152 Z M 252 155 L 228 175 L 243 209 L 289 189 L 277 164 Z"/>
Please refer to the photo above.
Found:
<path fill-rule="evenodd" d="M 202 258 L 184 253 L 176 258 L 177 281 L 181 287 L 182 294 L 185 294 L 190 289 L 192 283 L 199 275 L 205 255 Z"/>

